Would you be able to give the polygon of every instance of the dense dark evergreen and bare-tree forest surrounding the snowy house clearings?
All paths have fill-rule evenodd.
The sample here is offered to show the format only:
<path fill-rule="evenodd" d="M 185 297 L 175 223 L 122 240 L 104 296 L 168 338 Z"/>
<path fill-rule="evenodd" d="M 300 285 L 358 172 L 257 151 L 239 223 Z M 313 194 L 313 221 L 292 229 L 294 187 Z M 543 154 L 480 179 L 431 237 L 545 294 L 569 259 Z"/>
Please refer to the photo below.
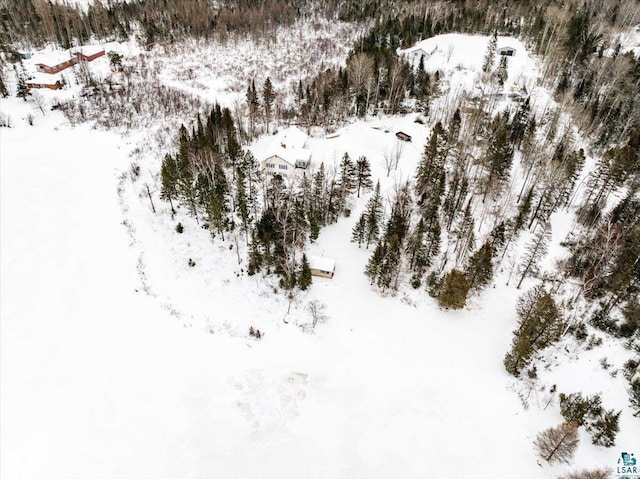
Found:
<path fill-rule="evenodd" d="M 351 240 L 371 250 L 364 274 L 372 286 L 391 294 L 403 287 L 423 289 L 452 309 L 463 308 L 498 269 L 508 268 L 507 250 L 528 232 L 526 253 L 511 266 L 509 281 L 517 288 L 527 278 L 539 281 L 518 302 L 506 370 L 535 376 L 536 353 L 564 334 L 590 341 L 588 327 L 620 338 L 637 353 L 640 59 L 621 54 L 614 40 L 615 33 L 640 23 L 637 2 L 97 0 L 83 11 L 16 0 L 0 8 L 0 43 L 11 52 L 22 44 L 54 41 L 67 47 L 74 39 L 137 33 L 151 48 L 190 37 L 259 37 L 276 25 L 316 15 L 370 28 L 345 65 L 300 80 L 291 103 L 274 104 L 285 100 L 274 94 L 269 79 L 258 86 L 249 79 L 242 117 L 218 104 L 194 106 L 199 113 L 185 119 L 189 127 L 179 129 L 175 150 L 162 161 L 162 198 L 172 212 L 184 208 L 212 237 L 233 241 L 238 254 L 244 245 L 246 273 L 277 275 L 291 296 L 311 282 L 305 245 L 321 228 L 350 215 L 354 198 L 367 194 Z M 522 39 L 540 58 L 541 82 L 558 110 L 538 115 L 524 95 L 504 111 L 461 100 L 452 111 L 430 116 L 440 78 L 422 64 L 411 66 L 397 49 L 447 32 Z M 500 66 L 487 65 L 486 74 L 489 83 L 503 81 Z M 99 98 L 122 93 L 95 87 L 94 95 L 98 104 Z M 104 109 L 114 108 L 107 103 L 113 104 L 103 101 Z M 68 110 L 76 118 L 80 114 L 77 106 Z M 412 179 L 387 198 L 372 181 L 369 159 L 348 152 L 337 168 L 320 164 L 298 181 L 264 178 L 243 146 L 282 120 L 274 118 L 276 111 L 301 126 L 326 130 L 377 112 L 412 111 L 433 128 Z M 561 113 L 572 115 L 575 129 L 560 124 Z M 387 173 L 394 168 L 393 154 L 388 156 Z M 587 156 L 598 162 L 578 195 Z M 514 186 L 516 160 L 525 175 Z M 570 256 L 552 276 L 543 276 L 538 266 L 547 252 L 551 215 L 569 209 L 576 211 L 564 242 Z M 576 302 L 587 305 L 580 310 L 587 315 L 582 320 L 570 308 Z M 640 414 L 638 364 L 628 363 L 627 376 L 631 405 Z M 615 411 L 594 417 L 603 421 L 594 426 L 602 433 L 594 441 L 612 445 Z"/>

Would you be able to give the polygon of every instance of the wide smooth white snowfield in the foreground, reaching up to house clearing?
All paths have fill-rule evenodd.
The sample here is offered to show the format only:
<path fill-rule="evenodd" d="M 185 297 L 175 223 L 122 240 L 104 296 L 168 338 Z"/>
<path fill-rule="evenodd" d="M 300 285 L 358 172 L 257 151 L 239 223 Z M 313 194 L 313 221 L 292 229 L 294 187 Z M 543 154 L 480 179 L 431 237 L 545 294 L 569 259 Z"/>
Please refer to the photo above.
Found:
<path fill-rule="evenodd" d="M 362 273 L 370 251 L 349 242 L 365 194 L 309 247 L 336 259 L 336 276 L 314 278 L 287 314 L 273 279 L 243 274 L 233 238 L 212 241 L 184 210 L 171 218 L 150 173 L 160 155 L 132 156 L 133 133 L 72 128 L 33 108 L 0 100 L 14 125 L 0 129 L 2 477 L 542 479 L 614 468 L 639 450 L 625 382 L 599 365 L 621 367 L 619 346 L 559 343 L 532 387 L 504 370 L 515 302 L 533 280 L 507 287 L 505 266 L 458 312 L 423 290 L 382 297 Z M 414 174 L 429 134 L 413 119 L 312 138 L 313 161 L 367 155 L 389 192 Z M 397 130 L 414 141 L 387 178 Z M 560 231 L 569 221 L 553 220 Z M 300 326 L 314 299 L 327 319 L 309 333 Z M 581 430 L 571 465 L 540 466 L 533 440 L 562 422 L 557 396 L 545 407 L 553 384 L 622 409 L 616 447 Z"/>

